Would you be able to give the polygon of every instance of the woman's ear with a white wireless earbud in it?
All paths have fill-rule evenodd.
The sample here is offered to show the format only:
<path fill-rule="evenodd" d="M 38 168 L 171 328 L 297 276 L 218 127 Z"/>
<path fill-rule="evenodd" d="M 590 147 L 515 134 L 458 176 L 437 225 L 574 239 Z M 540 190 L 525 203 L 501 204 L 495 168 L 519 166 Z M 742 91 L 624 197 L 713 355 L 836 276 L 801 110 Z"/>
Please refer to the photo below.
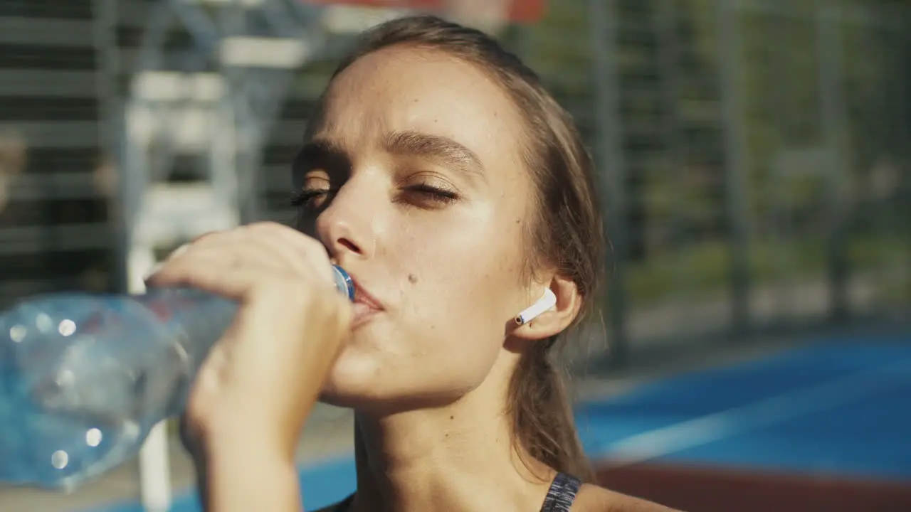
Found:
<path fill-rule="evenodd" d="M 527 310 L 517 314 L 513 336 L 527 340 L 543 340 L 562 332 L 576 320 L 582 306 L 582 297 L 575 282 L 554 276 L 549 288 L 545 290 L 552 294 L 542 290 L 537 302 L 529 304 Z M 541 309 L 544 311 L 540 311 Z"/>

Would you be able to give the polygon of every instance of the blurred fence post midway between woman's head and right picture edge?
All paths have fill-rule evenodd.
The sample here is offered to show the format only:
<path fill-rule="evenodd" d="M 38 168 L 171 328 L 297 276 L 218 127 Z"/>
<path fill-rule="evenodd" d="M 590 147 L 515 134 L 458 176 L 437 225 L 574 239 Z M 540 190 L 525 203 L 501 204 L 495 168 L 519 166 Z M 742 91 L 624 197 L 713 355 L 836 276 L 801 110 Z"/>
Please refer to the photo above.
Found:
<path fill-rule="evenodd" d="M 718 55 L 721 71 L 722 114 L 725 146 L 725 201 L 731 244 L 732 331 L 744 333 L 750 326 L 748 166 L 743 129 L 740 78 L 741 41 L 738 24 L 740 2 L 716 0 Z"/>

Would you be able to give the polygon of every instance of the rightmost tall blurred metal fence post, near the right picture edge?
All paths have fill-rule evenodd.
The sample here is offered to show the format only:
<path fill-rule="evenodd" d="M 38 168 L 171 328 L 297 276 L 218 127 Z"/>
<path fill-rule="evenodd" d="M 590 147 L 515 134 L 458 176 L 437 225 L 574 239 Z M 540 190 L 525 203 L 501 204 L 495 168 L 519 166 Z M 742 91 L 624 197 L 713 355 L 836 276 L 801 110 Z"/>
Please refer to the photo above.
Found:
<path fill-rule="evenodd" d="M 838 2 L 816 4 L 816 56 L 819 63 L 819 101 L 826 148 L 826 220 L 829 314 L 834 321 L 848 315 L 848 259 L 845 190 L 844 86 L 842 84 L 841 24 Z"/>

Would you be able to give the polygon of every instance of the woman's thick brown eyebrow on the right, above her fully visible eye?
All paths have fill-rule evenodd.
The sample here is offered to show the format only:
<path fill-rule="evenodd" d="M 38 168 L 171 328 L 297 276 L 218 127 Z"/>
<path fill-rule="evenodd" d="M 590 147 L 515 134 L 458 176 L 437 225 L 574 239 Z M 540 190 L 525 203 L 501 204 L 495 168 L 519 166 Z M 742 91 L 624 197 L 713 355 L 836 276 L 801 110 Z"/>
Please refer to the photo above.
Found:
<path fill-rule="evenodd" d="M 452 138 L 418 131 L 395 131 L 383 139 L 383 147 L 394 155 L 414 156 L 437 160 L 446 167 L 485 178 L 484 165 L 474 151 Z"/>

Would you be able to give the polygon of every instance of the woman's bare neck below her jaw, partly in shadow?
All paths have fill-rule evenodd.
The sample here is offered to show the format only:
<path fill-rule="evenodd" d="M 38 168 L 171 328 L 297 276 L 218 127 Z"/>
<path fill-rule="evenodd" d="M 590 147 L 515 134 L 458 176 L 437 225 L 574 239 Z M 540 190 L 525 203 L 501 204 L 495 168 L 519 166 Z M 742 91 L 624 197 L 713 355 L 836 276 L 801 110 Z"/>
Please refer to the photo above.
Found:
<path fill-rule="evenodd" d="M 359 413 L 352 512 L 540 507 L 553 471 L 519 456 L 503 400 L 483 386 L 445 407 Z"/>

